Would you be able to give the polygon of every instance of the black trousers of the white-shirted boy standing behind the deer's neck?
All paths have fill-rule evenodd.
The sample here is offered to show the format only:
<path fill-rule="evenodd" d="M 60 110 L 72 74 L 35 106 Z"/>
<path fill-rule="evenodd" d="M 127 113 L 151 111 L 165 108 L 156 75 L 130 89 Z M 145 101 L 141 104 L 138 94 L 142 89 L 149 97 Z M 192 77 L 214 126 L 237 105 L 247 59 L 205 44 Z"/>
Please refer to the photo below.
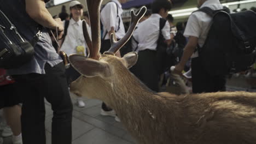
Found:
<path fill-rule="evenodd" d="M 155 92 L 159 91 L 156 51 L 139 51 L 137 63 L 130 69 L 139 80 Z"/>

